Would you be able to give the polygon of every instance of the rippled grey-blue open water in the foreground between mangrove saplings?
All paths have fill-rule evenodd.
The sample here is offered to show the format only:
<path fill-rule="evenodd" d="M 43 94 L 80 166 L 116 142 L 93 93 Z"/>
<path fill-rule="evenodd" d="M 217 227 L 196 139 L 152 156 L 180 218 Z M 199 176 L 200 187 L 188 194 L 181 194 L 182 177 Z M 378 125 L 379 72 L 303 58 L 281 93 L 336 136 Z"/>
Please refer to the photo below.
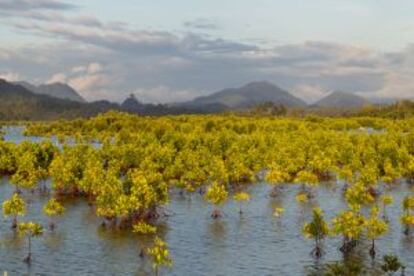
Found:
<path fill-rule="evenodd" d="M 0 201 L 10 197 L 13 186 L 7 178 L 0 182 Z M 298 187 L 288 186 L 277 198 L 269 198 L 271 187 L 265 183 L 251 186 L 252 199 L 243 205 L 233 201 L 221 207 L 224 217 L 210 218 L 212 207 L 198 194 L 190 197 L 176 192 L 167 206 L 173 215 L 160 222 L 159 235 L 168 242 L 174 265 L 162 269 L 161 275 L 308 275 L 324 264 L 342 259 L 340 238 L 324 242 L 325 255 L 316 262 L 309 254 L 313 241 L 306 240 L 301 229 L 311 217 L 311 207 L 319 205 L 331 219 L 345 207 L 341 185 L 327 183 L 317 190 L 316 200 L 305 205 L 295 201 Z M 402 234 L 399 223 L 401 200 L 409 192 L 407 184 L 389 190 L 395 203 L 387 209 L 390 231 L 377 245 L 377 262 L 384 254 L 396 254 L 407 266 L 406 275 L 414 275 L 414 238 Z M 26 218 L 47 226 L 42 214 L 47 196 L 24 193 L 29 202 Z M 129 232 L 104 230 L 94 210 L 83 200 L 64 203 L 66 213 L 57 222 L 55 233 L 46 231 L 34 239 L 33 262 L 22 262 L 26 256 L 25 240 L 17 238 L 6 218 L 0 223 L 0 272 L 9 275 L 149 275 L 152 267 L 139 258 L 140 245 L 150 245 L 150 237 Z M 281 218 L 272 215 L 283 206 Z M 414 237 L 414 236 L 413 236 Z M 357 248 L 358 258 L 368 267 L 369 275 L 378 275 L 368 256 L 369 244 Z M 378 264 L 376 265 L 378 267 Z"/>

